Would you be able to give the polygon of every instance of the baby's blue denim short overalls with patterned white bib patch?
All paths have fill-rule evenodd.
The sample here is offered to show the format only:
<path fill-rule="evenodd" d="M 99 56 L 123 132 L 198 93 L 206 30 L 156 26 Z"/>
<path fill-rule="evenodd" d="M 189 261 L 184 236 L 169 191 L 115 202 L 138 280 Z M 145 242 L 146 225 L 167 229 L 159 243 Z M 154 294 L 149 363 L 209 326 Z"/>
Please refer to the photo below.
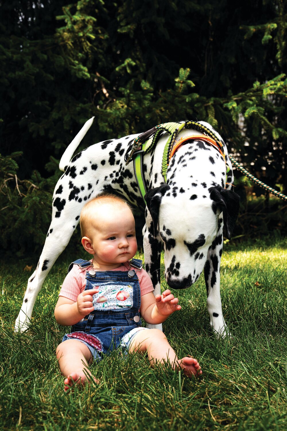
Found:
<path fill-rule="evenodd" d="M 77 259 L 71 263 L 81 268 L 91 266 L 90 261 Z M 129 274 L 131 272 L 129 271 Z M 127 347 L 124 339 L 129 340 L 141 328 L 139 308 L 141 290 L 135 273 L 128 271 L 93 271 L 86 272 L 85 290 L 99 287 L 99 293 L 93 295 L 94 311 L 71 327 L 71 333 L 65 334 L 62 341 L 71 338 L 82 341 L 91 351 L 94 359 L 102 359 L 102 354 L 117 347 Z M 132 331 L 132 332 L 130 332 Z"/>

